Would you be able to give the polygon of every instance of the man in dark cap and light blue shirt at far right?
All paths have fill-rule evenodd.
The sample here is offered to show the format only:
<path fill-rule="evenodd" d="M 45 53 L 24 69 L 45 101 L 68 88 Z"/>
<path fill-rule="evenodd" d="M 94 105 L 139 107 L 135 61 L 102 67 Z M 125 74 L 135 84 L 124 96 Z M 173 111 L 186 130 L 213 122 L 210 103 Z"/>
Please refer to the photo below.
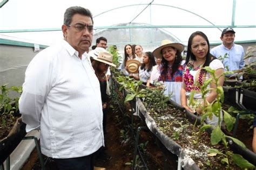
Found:
<path fill-rule="evenodd" d="M 245 66 L 244 48 L 241 45 L 234 44 L 234 37 L 235 32 L 232 28 L 224 29 L 220 37 L 223 44 L 211 49 L 211 54 L 219 58 L 225 69 L 230 71 L 239 70 Z M 229 76 L 231 76 L 231 79 L 234 77 L 233 75 Z"/>

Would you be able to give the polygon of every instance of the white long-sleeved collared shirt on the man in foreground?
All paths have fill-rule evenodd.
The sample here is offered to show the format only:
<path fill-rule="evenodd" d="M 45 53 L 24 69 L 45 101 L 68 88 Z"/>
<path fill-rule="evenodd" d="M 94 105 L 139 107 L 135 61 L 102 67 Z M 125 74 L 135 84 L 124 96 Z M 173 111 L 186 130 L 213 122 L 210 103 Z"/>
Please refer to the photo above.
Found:
<path fill-rule="evenodd" d="M 104 145 L 99 81 L 87 53 L 80 59 L 65 40 L 30 62 L 19 110 L 27 132 L 41 130 L 48 157 L 83 157 Z"/>

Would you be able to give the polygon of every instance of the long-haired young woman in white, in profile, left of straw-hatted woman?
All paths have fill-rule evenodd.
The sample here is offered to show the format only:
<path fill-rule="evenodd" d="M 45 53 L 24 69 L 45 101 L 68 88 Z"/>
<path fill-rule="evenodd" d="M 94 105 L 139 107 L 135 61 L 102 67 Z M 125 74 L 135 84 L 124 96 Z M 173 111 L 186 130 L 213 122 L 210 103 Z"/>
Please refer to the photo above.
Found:
<path fill-rule="evenodd" d="M 139 76 L 134 76 L 134 79 L 141 80 L 146 85 L 147 81 L 150 79 L 153 66 L 156 65 L 154 56 L 151 52 L 145 52 L 143 55 L 142 66 L 139 67 Z"/>

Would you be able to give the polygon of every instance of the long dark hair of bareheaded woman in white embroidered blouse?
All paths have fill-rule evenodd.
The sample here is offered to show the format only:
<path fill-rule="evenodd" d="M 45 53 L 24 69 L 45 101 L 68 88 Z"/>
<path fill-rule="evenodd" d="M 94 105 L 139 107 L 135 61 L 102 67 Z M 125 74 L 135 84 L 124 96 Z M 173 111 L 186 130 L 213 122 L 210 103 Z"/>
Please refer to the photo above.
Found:
<path fill-rule="evenodd" d="M 186 65 L 187 63 L 190 61 L 190 60 L 193 60 L 193 61 L 196 61 L 196 56 L 192 53 L 192 50 L 191 50 L 191 45 L 192 45 L 192 40 L 194 37 L 196 36 L 201 36 L 203 37 L 206 42 L 207 42 L 207 45 L 208 45 L 208 51 L 207 51 L 207 54 L 206 54 L 206 60 L 205 60 L 205 63 L 203 65 L 203 67 L 206 67 L 206 66 L 209 66 L 210 65 L 210 62 L 215 58 L 215 56 L 213 56 L 211 53 L 210 53 L 210 43 L 209 43 L 209 40 L 207 38 L 207 36 L 201 32 L 201 31 L 196 31 L 196 32 L 193 32 L 190 36 L 190 38 L 188 39 L 188 44 L 187 44 L 187 55 L 186 55 Z M 204 70 L 204 69 L 202 69 Z"/>

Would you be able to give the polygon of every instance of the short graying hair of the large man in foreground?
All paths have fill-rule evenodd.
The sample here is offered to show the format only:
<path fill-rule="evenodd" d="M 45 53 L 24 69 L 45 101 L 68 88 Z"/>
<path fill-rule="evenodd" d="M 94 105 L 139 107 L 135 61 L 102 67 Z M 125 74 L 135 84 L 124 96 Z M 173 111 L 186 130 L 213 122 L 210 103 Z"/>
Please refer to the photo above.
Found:
<path fill-rule="evenodd" d="M 70 8 L 66 9 L 64 13 L 64 25 L 70 25 L 72 22 L 72 17 L 75 14 L 83 15 L 90 17 L 92 20 L 93 24 L 93 19 L 92 19 L 92 13 L 89 9 L 83 8 L 81 6 L 71 6 Z"/>

